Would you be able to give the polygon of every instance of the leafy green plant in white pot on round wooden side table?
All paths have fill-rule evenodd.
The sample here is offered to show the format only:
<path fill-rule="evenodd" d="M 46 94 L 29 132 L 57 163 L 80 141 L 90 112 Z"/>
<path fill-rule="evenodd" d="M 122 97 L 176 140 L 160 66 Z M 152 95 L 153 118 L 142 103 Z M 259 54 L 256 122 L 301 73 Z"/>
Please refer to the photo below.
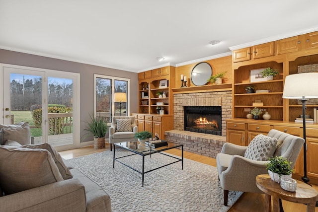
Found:
<path fill-rule="evenodd" d="M 265 163 L 270 178 L 280 183 L 281 177 L 292 177 L 294 170 L 291 168 L 292 162 L 283 156 L 272 156 L 269 162 Z"/>

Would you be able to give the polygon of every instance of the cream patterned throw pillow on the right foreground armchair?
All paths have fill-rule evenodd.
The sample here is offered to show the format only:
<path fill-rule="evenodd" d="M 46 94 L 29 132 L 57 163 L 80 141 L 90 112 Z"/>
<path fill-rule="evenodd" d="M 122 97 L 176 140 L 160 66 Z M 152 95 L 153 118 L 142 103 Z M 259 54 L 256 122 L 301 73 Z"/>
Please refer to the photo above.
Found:
<path fill-rule="evenodd" d="M 274 154 L 276 144 L 276 138 L 259 134 L 247 146 L 244 157 L 253 160 L 267 160 Z"/>

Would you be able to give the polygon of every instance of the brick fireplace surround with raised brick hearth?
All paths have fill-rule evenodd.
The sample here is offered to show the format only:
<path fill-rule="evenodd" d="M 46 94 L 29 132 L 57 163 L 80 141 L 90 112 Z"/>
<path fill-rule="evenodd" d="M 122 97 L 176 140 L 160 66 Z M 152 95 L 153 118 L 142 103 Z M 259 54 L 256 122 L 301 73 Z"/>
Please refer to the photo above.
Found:
<path fill-rule="evenodd" d="M 174 130 L 164 133 L 165 140 L 181 143 L 184 150 L 216 157 L 226 142 L 226 119 L 232 118 L 232 91 L 175 93 Z M 184 131 L 184 106 L 221 106 L 222 136 Z"/>

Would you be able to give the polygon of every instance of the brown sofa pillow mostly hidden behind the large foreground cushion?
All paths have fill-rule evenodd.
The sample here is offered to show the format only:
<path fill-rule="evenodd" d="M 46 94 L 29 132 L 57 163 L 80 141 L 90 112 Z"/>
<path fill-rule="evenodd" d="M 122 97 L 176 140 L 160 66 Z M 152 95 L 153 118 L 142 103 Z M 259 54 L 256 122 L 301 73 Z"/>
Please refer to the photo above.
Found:
<path fill-rule="evenodd" d="M 63 162 L 63 159 L 62 159 L 61 155 L 59 154 L 59 152 L 53 146 L 51 146 L 49 143 L 41 143 L 41 144 L 35 144 L 35 145 L 23 145 L 21 147 L 22 148 L 31 148 L 31 149 L 40 148 L 40 149 L 48 150 L 51 153 L 52 158 L 53 158 L 55 164 L 57 165 L 63 179 L 66 180 L 66 179 L 73 178 L 72 173 L 70 172 L 68 167 Z"/>

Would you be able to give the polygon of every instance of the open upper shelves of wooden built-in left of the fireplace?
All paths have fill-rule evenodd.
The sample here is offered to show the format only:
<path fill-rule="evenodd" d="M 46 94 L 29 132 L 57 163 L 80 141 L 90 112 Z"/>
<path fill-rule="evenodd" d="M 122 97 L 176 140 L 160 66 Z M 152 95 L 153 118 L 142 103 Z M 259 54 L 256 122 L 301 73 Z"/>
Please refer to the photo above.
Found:
<path fill-rule="evenodd" d="M 139 113 L 157 114 L 156 108 L 160 107 L 164 114 L 173 114 L 174 70 L 174 67 L 150 70 L 152 77 L 139 80 Z M 159 98 L 157 93 L 163 91 L 165 97 Z"/>

